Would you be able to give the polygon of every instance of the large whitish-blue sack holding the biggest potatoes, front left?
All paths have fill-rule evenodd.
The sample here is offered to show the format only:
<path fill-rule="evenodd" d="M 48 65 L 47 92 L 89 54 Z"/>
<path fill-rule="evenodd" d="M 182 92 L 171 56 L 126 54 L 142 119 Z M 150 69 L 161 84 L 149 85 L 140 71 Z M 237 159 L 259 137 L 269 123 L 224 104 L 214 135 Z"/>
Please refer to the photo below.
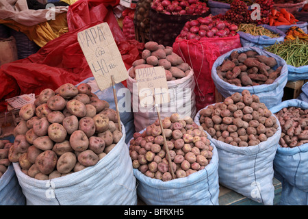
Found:
<path fill-rule="evenodd" d="M 136 205 L 136 178 L 123 137 L 96 165 L 50 180 L 38 180 L 14 170 L 27 205 Z"/>

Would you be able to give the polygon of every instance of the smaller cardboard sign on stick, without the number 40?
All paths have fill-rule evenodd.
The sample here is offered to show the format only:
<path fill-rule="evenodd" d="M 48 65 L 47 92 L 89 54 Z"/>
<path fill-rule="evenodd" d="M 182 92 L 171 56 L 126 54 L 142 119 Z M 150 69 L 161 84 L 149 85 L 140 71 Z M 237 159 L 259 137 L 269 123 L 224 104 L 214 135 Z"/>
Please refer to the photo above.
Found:
<path fill-rule="evenodd" d="M 166 73 L 163 66 L 136 69 L 140 103 L 153 105 L 170 101 Z M 143 100 L 143 101 L 142 101 Z"/>

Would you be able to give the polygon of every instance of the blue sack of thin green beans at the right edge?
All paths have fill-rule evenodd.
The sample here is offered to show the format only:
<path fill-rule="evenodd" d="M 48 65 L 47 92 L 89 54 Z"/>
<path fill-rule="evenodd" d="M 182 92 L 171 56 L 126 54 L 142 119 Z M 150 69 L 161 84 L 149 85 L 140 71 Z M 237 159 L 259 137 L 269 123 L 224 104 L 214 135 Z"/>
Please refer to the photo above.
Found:
<path fill-rule="evenodd" d="M 279 55 L 287 63 L 287 81 L 308 78 L 308 41 L 285 40 L 265 48 L 266 51 Z"/>

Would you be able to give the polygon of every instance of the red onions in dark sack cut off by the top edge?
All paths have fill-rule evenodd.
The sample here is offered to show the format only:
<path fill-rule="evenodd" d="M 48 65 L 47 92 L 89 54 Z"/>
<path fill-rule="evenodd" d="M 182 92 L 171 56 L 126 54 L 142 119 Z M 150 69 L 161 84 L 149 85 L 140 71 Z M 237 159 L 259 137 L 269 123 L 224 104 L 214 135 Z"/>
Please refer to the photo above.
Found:
<path fill-rule="evenodd" d="M 165 14 L 205 14 L 209 11 L 205 2 L 197 0 L 153 0 L 153 10 Z"/>

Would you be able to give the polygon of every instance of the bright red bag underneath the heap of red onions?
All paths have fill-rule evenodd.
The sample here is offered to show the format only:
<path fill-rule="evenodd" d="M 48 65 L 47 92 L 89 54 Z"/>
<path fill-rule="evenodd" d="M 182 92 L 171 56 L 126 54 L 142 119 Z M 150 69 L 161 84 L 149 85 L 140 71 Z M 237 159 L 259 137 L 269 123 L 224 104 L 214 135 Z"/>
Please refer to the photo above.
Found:
<path fill-rule="evenodd" d="M 194 70 L 197 111 L 215 101 L 215 85 L 211 78 L 211 68 L 215 60 L 227 51 L 238 47 L 241 47 L 238 34 L 225 38 L 203 38 L 201 40 L 177 38 L 173 43 L 173 51 Z"/>

